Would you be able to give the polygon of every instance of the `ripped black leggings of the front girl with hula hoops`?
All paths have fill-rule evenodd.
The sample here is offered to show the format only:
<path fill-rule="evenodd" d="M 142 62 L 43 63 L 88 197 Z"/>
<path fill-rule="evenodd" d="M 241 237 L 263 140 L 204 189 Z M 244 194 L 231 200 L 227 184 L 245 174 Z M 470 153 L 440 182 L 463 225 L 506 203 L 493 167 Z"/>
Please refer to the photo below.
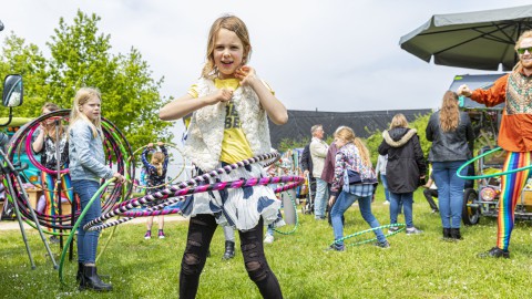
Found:
<path fill-rule="evenodd" d="M 181 261 L 180 298 L 195 298 L 208 247 L 216 230 L 213 215 L 202 214 L 191 218 L 185 252 Z M 263 247 L 263 218 L 246 231 L 238 231 L 241 249 L 247 275 L 257 285 L 263 298 L 283 298 L 280 286 L 268 266 Z"/>

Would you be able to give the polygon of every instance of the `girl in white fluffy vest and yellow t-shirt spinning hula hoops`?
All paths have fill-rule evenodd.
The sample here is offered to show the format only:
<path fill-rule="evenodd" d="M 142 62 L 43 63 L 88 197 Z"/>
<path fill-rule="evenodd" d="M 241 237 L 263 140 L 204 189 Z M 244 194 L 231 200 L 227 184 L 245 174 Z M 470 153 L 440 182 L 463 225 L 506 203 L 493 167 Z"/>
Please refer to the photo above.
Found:
<path fill-rule="evenodd" d="M 218 18 L 211 27 L 207 63 L 188 93 L 166 104 L 160 117 L 173 121 L 192 113 L 184 154 L 200 173 L 213 171 L 272 150 L 268 117 L 288 121 L 286 107 L 247 65 L 252 51 L 245 23 L 235 16 Z M 223 174 L 221 181 L 265 177 L 250 164 Z M 194 194 L 185 199 L 188 236 L 181 262 L 180 298 L 195 298 L 200 275 L 218 224 L 238 229 L 245 268 L 265 298 L 282 298 L 279 282 L 263 247 L 264 225 L 276 221 L 280 200 L 268 186 Z M 233 243 L 234 246 L 234 243 Z M 227 249 L 227 248 L 226 248 Z"/>

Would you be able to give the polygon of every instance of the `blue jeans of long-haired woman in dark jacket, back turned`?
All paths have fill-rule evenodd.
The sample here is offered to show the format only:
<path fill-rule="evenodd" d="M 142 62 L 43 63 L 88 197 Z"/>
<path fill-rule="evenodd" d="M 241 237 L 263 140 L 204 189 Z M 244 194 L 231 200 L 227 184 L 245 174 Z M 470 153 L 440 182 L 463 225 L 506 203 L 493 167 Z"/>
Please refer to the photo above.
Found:
<path fill-rule="evenodd" d="M 438 187 L 438 203 L 443 228 L 460 228 L 466 181 L 457 176 L 457 171 L 462 164 L 463 161 L 432 162 L 432 177 Z M 466 169 L 462 174 L 466 175 Z"/>

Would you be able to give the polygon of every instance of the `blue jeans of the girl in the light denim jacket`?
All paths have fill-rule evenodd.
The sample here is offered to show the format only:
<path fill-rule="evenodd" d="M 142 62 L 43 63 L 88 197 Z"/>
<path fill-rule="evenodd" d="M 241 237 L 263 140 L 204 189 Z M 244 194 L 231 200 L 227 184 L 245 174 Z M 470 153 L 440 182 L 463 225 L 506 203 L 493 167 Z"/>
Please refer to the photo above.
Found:
<path fill-rule="evenodd" d="M 72 181 L 74 193 L 78 194 L 81 202 L 81 210 L 84 210 L 92 196 L 100 188 L 100 183 L 95 181 L 81 179 Z M 96 260 L 98 238 L 100 230 L 85 231 L 83 226 L 102 215 L 100 199 L 95 199 L 78 227 L 78 261 L 83 264 L 94 264 Z"/>

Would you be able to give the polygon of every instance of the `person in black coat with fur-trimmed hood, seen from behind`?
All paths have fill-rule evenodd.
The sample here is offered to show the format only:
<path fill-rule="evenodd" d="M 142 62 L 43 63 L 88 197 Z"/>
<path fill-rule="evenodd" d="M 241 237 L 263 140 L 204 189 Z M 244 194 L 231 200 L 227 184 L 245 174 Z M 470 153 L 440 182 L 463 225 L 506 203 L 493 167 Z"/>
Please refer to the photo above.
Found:
<path fill-rule="evenodd" d="M 427 173 L 423 151 L 415 128 L 408 127 L 408 121 L 401 113 L 391 120 L 390 130 L 382 132 L 383 141 L 379 146 L 380 155 L 388 155 L 386 176 L 390 190 L 390 224 L 397 224 L 399 203 L 403 205 L 407 234 L 422 233 L 413 226 L 413 192 Z M 391 227 L 390 230 L 397 230 Z"/>

